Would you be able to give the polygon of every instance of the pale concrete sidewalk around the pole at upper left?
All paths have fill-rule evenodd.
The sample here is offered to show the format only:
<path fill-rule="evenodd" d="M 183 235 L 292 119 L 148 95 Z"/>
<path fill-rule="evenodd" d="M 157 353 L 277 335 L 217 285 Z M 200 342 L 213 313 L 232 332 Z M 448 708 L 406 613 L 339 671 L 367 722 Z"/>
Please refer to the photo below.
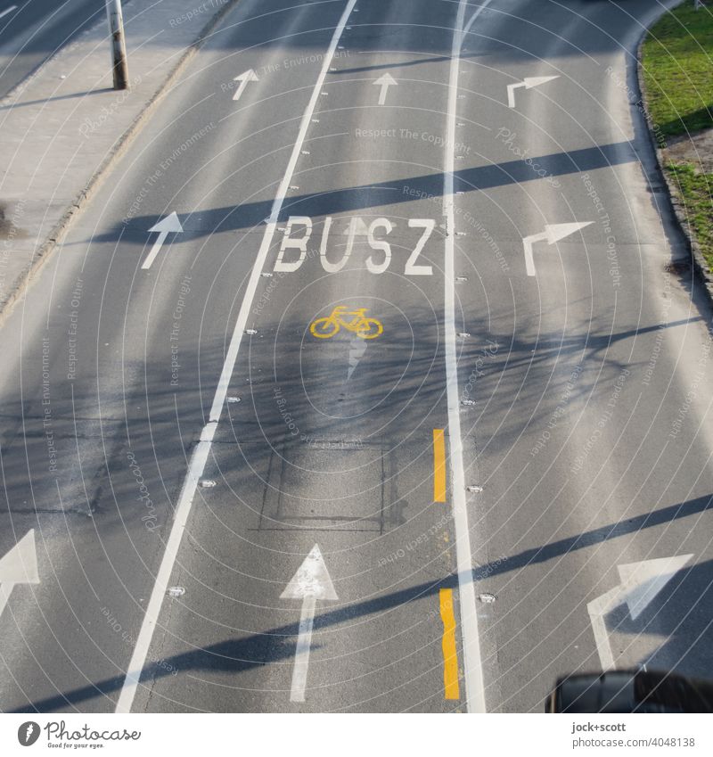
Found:
<path fill-rule="evenodd" d="M 130 92 L 111 79 L 103 20 L 0 101 L 0 314 L 237 0 L 124 3 Z"/>

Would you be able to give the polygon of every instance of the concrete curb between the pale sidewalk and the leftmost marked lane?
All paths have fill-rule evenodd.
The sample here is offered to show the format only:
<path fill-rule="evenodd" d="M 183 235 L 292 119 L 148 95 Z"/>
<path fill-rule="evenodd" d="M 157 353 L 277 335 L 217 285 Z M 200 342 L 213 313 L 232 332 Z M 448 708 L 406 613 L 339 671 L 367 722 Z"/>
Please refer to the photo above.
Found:
<path fill-rule="evenodd" d="M 206 41 L 217 25 L 225 18 L 228 12 L 231 12 L 234 7 L 240 3 L 240 0 L 228 0 L 225 5 L 213 15 L 209 21 L 203 26 L 198 36 L 191 45 L 189 45 L 180 59 L 176 62 L 174 68 L 168 73 L 168 77 L 165 78 L 159 89 L 152 95 L 151 99 L 146 103 L 145 108 L 141 113 L 132 121 L 131 125 L 119 136 L 119 139 L 115 142 L 113 148 L 107 153 L 104 160 L 98 169 L 94 171 L 84 188 L 79 192 L 78 197 L 72 202 L 69 208 L 65 210 L 60 220 L 53 226 L 52 230 L 47 235 L 45 242 L 40 244 L 35 251 L 32 262 L 29 264 L 20 276 L 13 282 L 12 290 L 7 293 L 4 300 L 0 300 L 0 325 L 3 325 L 7 317 L 12 314 L 12 310 L 15 305 L 21 300 L 23 294 L 26 292 L 29 284 L 39 274 L 45 265 L 47 259 L 50 258 L 50 253 L 53 249 L 62 242 L 70 231 L 70 226 L 75 218 L 78 218 L 79 213 L 84 209 L 86 202 L 92 197 L 93 193 L 99 189 L 103 181 L 111 174 L 111 169 L 115 164 L 124 156 L 129 146 L 133 143 L 135 137 L 139 134 L 145 124 L 151 119 L 153 111 L 160 102 L 163 95 L 176 81 L 176 78 L 184 70 L 188 62 L 191 61 L 193 55 L 201 49 L 201 45 Z M 30 78 L 37 76 L 37 73 L 44 68 L 44 66 L 51 62 L 51 58 L 45 61 L 36 71 L 34 71 Z M 21 82 L 15 90 L 23 86 L 24 82 Z M 13 90 L 13 92 L 15 91 Z M 11 97 L 12 93 L 8 94 Z M 6 98 L 5 98 L 6 99 Z"/>

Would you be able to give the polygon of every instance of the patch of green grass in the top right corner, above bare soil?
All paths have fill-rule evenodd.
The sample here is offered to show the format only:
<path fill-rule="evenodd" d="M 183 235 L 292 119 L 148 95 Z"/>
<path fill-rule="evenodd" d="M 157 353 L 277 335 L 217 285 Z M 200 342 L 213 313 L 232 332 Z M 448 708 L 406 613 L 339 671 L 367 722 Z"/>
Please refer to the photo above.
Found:
<path fill-rule="evenodd" d="M 642 48 L 652 121 L 664 136 L 713 126 L 713 4 L 686 0 L 652 27 Z"/>

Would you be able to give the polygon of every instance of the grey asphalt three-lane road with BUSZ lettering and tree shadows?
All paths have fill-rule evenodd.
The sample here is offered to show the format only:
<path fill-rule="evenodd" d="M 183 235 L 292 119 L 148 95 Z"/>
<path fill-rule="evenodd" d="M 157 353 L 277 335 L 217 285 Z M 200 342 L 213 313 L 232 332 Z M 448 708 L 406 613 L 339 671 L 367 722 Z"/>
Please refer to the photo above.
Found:
<path fill-rule="evenodd" d="M 225 16 L 0 329 L 4 712 L 713 677 L 711 313 L 635 104 L 653 5 Z"/>

